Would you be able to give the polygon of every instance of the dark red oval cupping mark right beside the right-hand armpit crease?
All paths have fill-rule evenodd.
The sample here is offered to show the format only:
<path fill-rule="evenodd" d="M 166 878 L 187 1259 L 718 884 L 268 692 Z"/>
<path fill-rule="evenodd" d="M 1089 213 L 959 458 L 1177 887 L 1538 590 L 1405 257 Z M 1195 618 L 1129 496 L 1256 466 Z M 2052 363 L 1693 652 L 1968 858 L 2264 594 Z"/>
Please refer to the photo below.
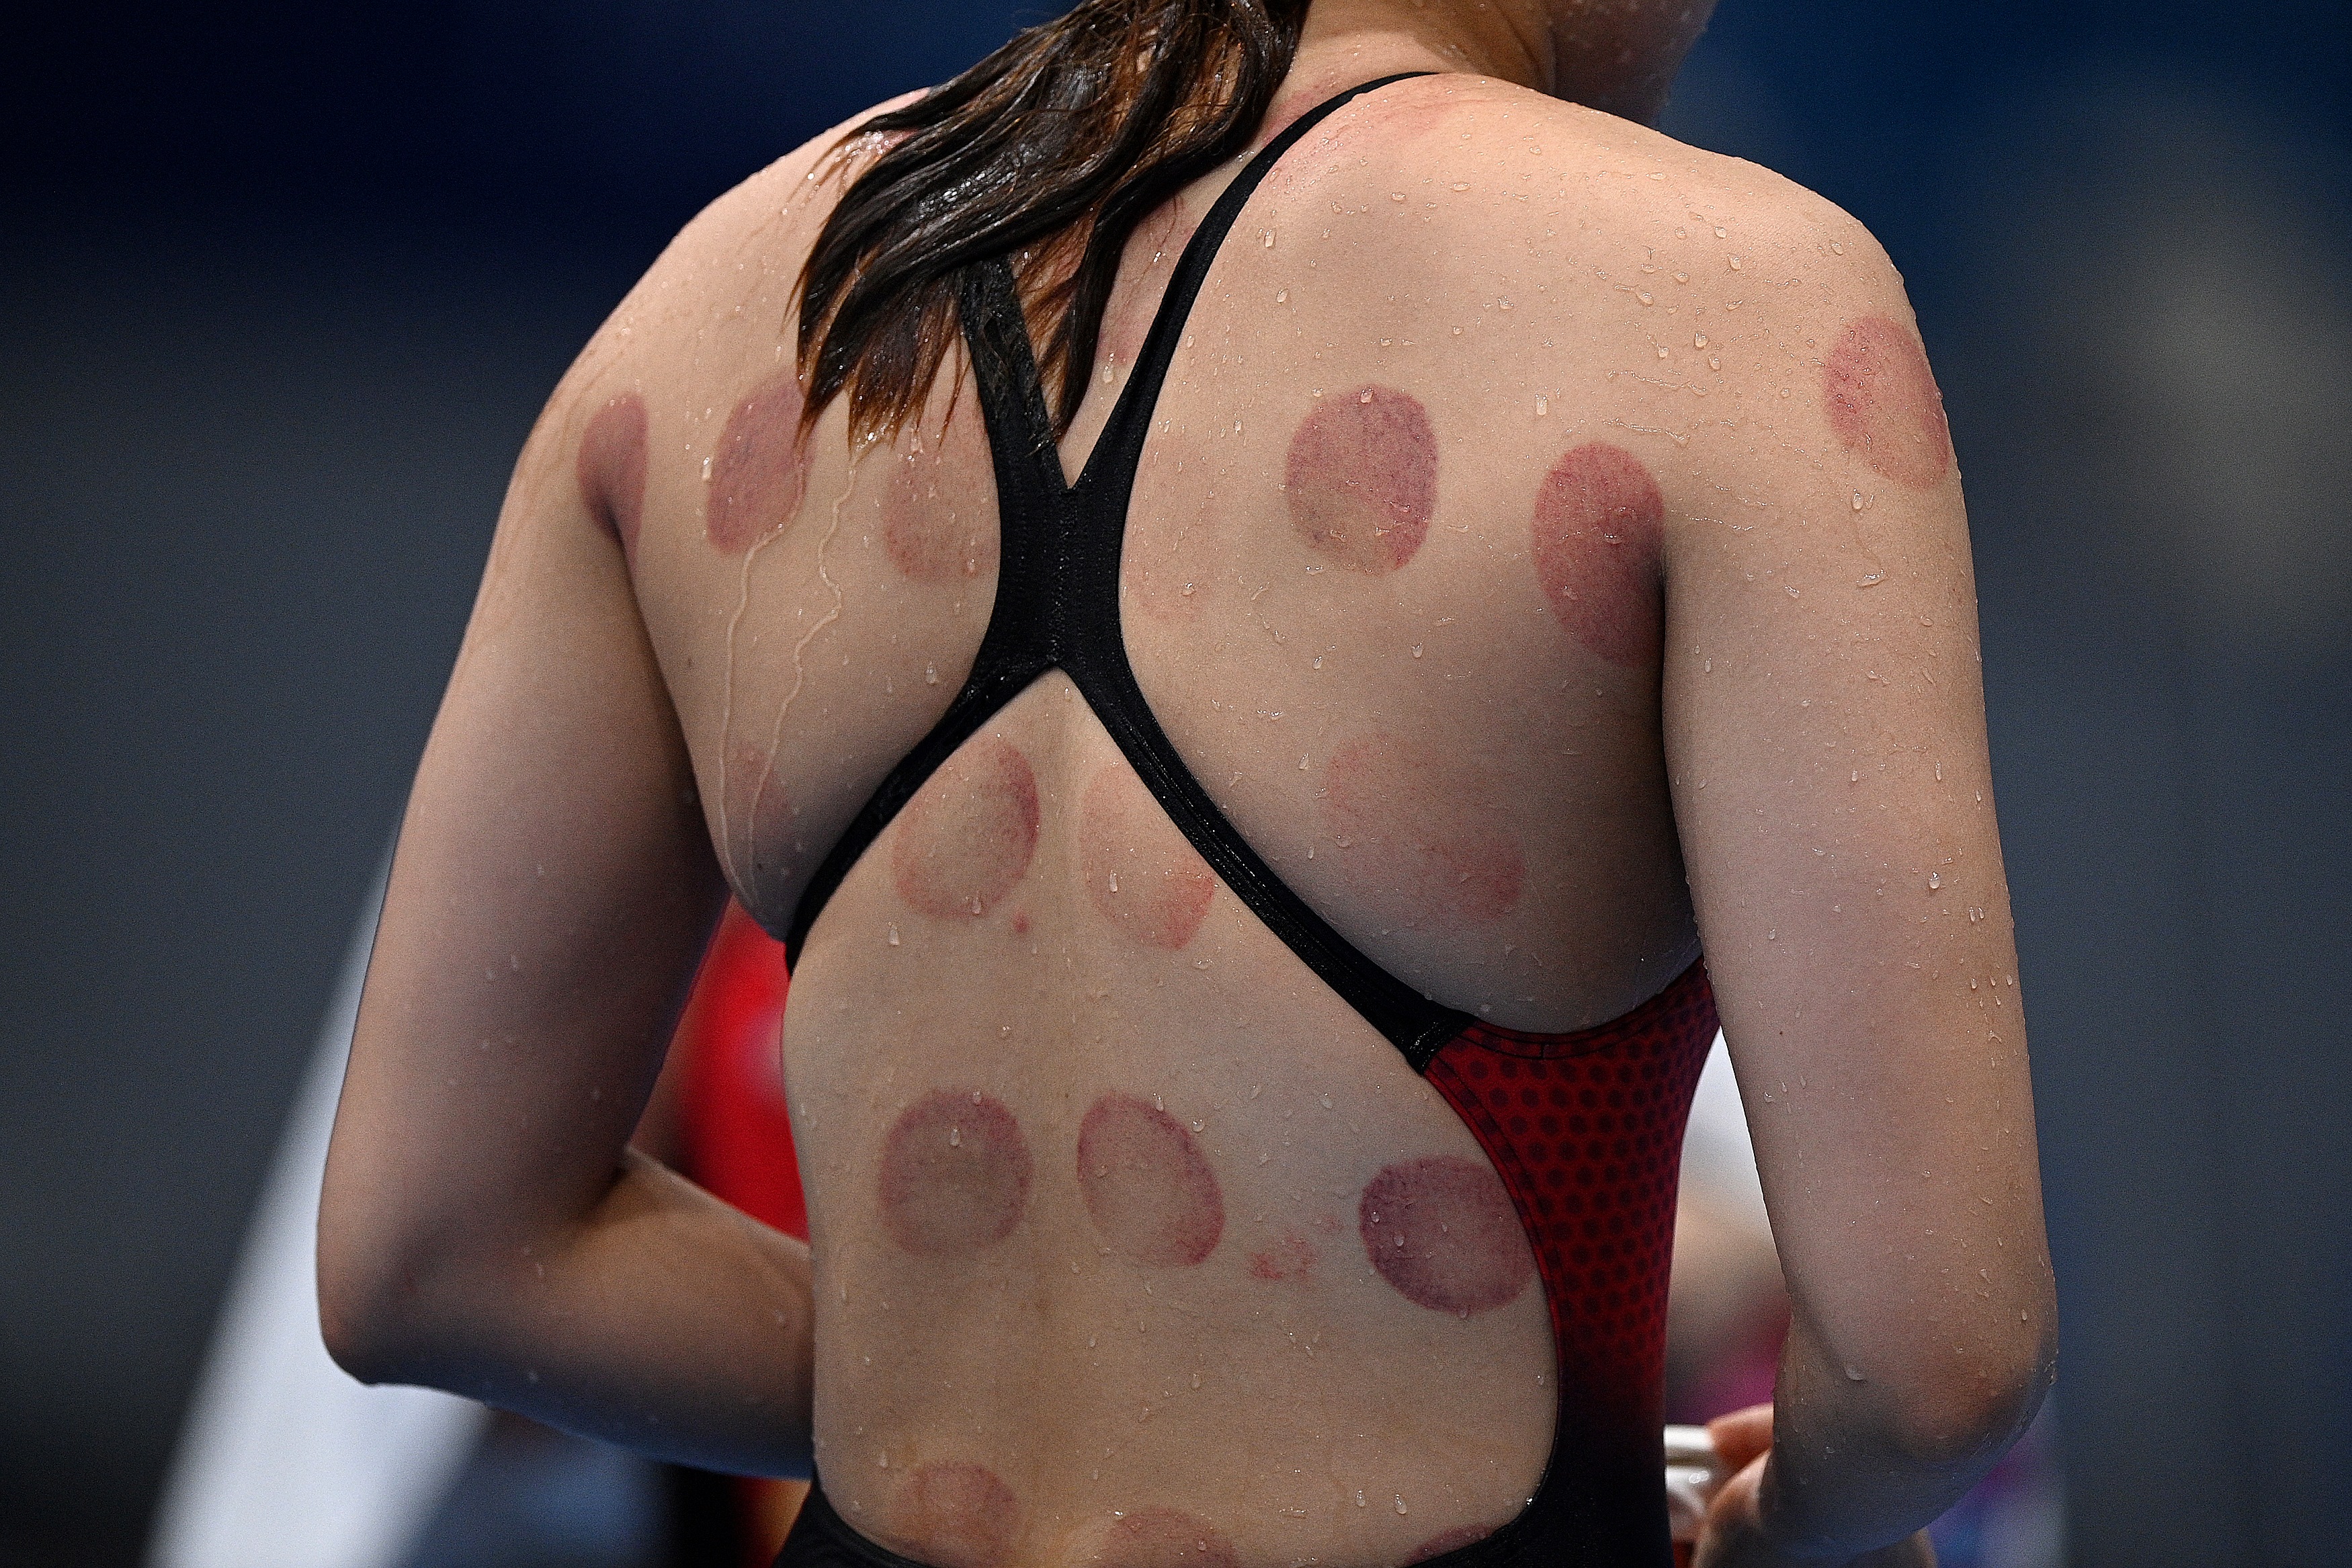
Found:
<path fill-rule="evenodd" d="M 1571 447 L 1536 491 L 1536 581 L 1552 614 L 1613 665 L 1658 665 L 1665 604 L 1658 552 L 1665 498 L 1623 447 Z"/>

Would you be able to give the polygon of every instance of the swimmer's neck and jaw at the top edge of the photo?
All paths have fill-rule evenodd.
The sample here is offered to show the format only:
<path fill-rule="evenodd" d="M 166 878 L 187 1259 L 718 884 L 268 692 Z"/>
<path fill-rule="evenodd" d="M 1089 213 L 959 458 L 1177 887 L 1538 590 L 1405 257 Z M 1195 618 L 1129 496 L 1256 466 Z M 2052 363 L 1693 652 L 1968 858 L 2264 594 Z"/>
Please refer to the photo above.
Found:
<path fill-rule="evenodd" d="M 1712 0 L 1315 0 L 1296 78 L 1461 71 L 1649 125 Z"/>

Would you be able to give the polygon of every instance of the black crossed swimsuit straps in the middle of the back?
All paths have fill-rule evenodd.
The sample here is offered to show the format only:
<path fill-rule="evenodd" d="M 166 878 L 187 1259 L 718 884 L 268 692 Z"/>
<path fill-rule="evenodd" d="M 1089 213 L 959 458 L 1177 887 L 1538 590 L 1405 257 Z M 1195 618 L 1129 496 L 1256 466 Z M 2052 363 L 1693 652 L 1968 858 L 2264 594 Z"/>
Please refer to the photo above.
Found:
<path fill-rule="evenodd" d="M 1468 1027 L 1468 1013 L 1430 1001 L 1367 959 L 1232 827 L 1143 701 L 1120 628 L 1120 550 L 1136 465 L 1185 317 L 1218 247 L 1284 153 L 1350 99 L 1409 75 L 1425 73 L 1364 82 L 1310 108 L 1225 186 L 1176 261 L 1143 353 L 1077 484 L 1063 484 L 1061 477 L 1054 423 L 1009 261 L 997 256 L 964 270 L 957 303 L 997 480 L 995 609 L 971 675 L 938 726 L 891 769 L 811 877 L 786 933 L 790 961 L 797 964 L 809 926 L 842 877 L 915 790 L 990 715 L 1040 675 L 1058 668 L 1070 675 L 1136 776 L 1225 886 L 1416 1070 Z"/>

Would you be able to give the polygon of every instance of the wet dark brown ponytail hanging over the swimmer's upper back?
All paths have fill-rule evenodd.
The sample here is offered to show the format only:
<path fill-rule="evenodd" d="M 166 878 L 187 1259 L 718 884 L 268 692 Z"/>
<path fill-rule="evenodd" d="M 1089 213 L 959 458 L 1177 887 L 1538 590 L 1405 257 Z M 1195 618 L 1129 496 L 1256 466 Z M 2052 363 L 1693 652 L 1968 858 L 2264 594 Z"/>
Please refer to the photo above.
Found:
<path fill-rule="evenodd" d="M 800 277 L 802 428 L 842 393 L 851 435 L 913 418 L 955 339 L 957 273 L 1007 252 L 1047 327 L 1037 360 L 1065 428 L 1129 235 L 1251 143 L 1305 12 L 1308 0 L 1080 0 L 866 120 L 856 139 L 894 143 L 842 193 Z"/>

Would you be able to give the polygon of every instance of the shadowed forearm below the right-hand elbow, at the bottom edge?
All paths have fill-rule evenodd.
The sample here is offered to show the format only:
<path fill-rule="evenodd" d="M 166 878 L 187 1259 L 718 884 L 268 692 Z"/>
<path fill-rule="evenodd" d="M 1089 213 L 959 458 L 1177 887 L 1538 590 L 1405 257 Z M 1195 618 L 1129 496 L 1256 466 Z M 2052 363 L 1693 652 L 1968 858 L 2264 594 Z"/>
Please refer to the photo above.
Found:
<path fill-rule="evenodd" d="M 1962 1387 L 1853 1382 L 1799 1321 L 1780 1352 L 1759 1526 L 1792 1563 L 1846 1563 L 1926 1528 L 1976 1486 L 2049 1389 L 2039 1342 L 1985 1347 Z"/>

